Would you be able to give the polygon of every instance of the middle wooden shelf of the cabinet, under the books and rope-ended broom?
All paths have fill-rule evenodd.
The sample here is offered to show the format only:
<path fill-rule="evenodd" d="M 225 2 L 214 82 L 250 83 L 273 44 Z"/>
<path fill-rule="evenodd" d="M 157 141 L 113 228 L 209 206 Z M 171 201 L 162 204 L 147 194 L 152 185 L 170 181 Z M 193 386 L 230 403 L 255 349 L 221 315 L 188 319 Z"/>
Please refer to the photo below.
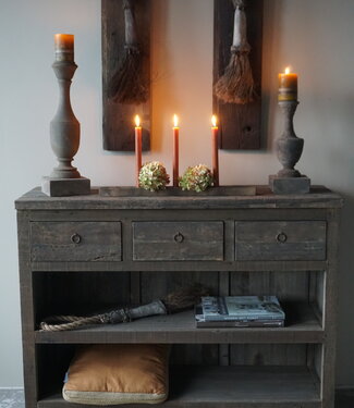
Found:
<path fill-rule="evenodd" d="M 168 277 L 168 276 L 167 276 Z M 149 282 L 143 279 L 144 283 Z M 161 280 L 162 281 L 162 280 Z M 157 282 L 157 281 L 152 281 Z M 209 281 L 210 282 L 210 281 Z M 148 288 L 151 288 L 151 284 Z M 162 295 L 163 296 L 163 295 Z M 162 297 L 161 296 L 161 297 Z M 148 297 L 149 299 L 151 296 Z M 158 298 L 155 296 L 155 298 Z M 148 301 L 148 300 L 145 300 Z M 255 354 L 260 355 L 261 344 L 319 343 L 325 338 L 312 307 L 305 302 L 292 305 L 293 317 L 288 319 L 285 327 L 272 329 L 197 329 L 194 312 L 187 310 L 172 316 L 150 317 L 126 324 L 100 325 L 69 332 L 36 332 L 36 343 L 168 343 L 168 344 L 256 344 Z M 68 310 L 65 307 L 64 310 Z M 75 309 L 72 309 L 75 310 Z M 87 309 L 86 309 L 87 310 Z M 286 311 L 289 311 L 289 307 Z M 57 311 L 58 312 L 58 311 Z M 256 350 L 256 351 L 255 351 Z M 240 360 L 243 354 L 234 351 Z M 282 361 L 283 362 L 283 361 Z M 234 362 L 235 363 L 235 362 Z M 246 362 L 243 362 L 246 363 Z M 280 357 L 278 363 L 281 363 Z M 295 362 L 293 361 L 293 364 Z M 305 362 L 303 361 L 303 364 Z"/>

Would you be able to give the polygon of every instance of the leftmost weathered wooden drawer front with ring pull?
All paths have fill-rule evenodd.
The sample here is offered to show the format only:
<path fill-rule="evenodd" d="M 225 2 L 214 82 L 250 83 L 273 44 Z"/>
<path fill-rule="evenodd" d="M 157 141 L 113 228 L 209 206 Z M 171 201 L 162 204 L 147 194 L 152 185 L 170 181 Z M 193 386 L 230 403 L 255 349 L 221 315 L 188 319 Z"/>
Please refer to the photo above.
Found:
<path fill-rule="evenodd" d="M 33 222 L 34 262 L 121 261 L 120 222 Z"/>

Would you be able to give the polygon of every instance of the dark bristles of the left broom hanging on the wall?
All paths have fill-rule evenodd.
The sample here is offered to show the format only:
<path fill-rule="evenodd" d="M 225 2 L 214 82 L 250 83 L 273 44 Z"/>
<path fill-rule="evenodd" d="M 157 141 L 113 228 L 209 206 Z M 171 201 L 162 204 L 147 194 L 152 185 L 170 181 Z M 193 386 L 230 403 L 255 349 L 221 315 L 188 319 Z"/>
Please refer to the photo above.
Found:
<path fill-rule="evenodd" d="M 126 49 L 121 64 L 108 86 L 108 97 L 119 103 L 144 103 L 149 89 L 142 74 L 142 55 Z"/>

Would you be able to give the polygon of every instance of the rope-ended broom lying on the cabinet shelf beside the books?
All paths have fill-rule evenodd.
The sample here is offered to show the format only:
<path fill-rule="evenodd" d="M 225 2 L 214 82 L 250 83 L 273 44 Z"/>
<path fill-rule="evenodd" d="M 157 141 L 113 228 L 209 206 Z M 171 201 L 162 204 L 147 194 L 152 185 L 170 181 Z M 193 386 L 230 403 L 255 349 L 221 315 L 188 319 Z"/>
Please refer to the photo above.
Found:
<path fill-rule="evenodd" d="M 178 313 L 192 308 L 199 302 L 202 296 L 207 296 L 208 290 L 199 284 L 182 287 L 162 299 L 136 308 L 121 308 L 91 317 L 53 316 L 40 323 L 45 332 L 61 332 L 74 330 L 91 324 L 118 324 L 149 316 Z"/>

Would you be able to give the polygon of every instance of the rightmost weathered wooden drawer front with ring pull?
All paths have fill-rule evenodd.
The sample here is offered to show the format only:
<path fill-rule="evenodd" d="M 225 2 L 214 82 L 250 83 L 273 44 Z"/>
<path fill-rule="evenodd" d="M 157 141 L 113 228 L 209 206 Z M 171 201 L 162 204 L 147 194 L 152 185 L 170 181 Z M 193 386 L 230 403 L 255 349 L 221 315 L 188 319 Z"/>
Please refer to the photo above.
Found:
<path fill-rule="evenodd" d="M 325 260 L 326 222 L 236 222 L 235 259 L 244 261 Z"/>

